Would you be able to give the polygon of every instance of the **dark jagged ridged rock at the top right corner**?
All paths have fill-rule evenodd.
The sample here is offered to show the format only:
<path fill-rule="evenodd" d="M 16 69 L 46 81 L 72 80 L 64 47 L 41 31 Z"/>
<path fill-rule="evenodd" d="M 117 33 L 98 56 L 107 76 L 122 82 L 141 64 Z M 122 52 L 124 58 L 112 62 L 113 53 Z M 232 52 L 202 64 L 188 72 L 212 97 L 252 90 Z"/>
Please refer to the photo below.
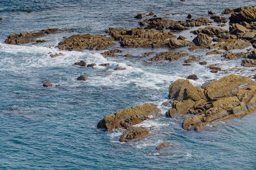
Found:
<path fill-rule="evenodd" d="M 246 21 L 247 23 L 256 21 L 256 8 L 240 7 L 234 9 L 234 12 L 229 17 L 231 23 L 240 23 Z"/>

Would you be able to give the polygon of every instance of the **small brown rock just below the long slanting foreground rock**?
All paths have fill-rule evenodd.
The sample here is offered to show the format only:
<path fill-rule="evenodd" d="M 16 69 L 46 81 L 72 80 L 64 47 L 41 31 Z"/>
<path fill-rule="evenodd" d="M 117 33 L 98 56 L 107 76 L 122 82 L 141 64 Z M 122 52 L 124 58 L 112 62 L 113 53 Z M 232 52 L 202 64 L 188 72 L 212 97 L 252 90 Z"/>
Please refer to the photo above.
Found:
<path fill-rule="evenodd" d="M 119 141 L 133 142 L 138 139 L 146 138 L 148 136 L 150 136 L 150 131 L 147 128 L 131 126 L 124 131 Z"/>

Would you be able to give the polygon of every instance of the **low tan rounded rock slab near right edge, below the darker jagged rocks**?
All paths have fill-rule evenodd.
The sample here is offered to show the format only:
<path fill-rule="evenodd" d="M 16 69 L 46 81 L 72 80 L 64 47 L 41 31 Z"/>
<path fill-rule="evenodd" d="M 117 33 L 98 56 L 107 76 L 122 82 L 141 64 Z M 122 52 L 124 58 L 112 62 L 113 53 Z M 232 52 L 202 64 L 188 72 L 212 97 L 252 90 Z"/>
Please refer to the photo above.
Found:
<path fill-rule="evenodd" d="M 219 42 L 217 44 L 210 45 L 209 48 L 217 48 L 219 50 L 233 50 L 233 49 L 244 49 L 250 47 L 250 43 L 246 40 L 233 40 L 228 39 L 226 42 Z"/>

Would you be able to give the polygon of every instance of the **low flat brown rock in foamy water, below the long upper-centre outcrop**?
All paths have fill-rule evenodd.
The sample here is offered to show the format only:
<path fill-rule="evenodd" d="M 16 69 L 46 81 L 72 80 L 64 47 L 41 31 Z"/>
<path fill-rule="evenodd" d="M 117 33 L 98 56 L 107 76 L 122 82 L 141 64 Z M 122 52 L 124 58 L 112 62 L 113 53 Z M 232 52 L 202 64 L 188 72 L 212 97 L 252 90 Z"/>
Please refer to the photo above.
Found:
<path fill-rule="evenodd" d="M 169 60 L 174 61 L 183 57 L 189 56 L 188 53 L 182 53 L 182 52 L 176 52 L 176 51 L 163 51 L 158 54 L 156 54 L 155 57 L 152 57 L 148 60 L 150 61 L 160 61 L 160 60 Z"/>

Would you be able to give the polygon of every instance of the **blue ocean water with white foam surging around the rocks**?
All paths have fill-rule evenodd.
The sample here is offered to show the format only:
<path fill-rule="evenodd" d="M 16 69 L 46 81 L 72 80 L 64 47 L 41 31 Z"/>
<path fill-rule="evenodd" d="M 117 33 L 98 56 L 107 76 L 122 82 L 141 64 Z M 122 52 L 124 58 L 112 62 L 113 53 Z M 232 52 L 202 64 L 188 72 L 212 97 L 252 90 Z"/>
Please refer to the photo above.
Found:
<path fill-rule="evenodd" d="M 49 46 L 66 36 L 105 34 L 109 27 L 138 27 L 139 20 L 134 19 L 137 13 L 152 11 L 159 17 L 186 20 L 187 14 L 209 17 L 207 11 L 221 14 L 224 8 L 252 5 L 256 5 L 255 0 L 0 0 L 0 169 L 255 170 L 255 113 L 195 132 L 181 128 L 184 116 L 167 118 L 169 108 L 160 106 L 168 99 L 169 85 L 190 74 L 198 75 L 197 81 L 191 80 L 197 86 L 228 74 L 254 75 L 251 68 L 240 65 L 241 59 L 221 61 L 220 55 L 206 56 L 205 50 L 189 51 L 208 64 L 220 63 L 223 70 L 243 68 L 212 74 L 198 62 L 183 66 L 186 58 L 148 64 L 144 62 L 148 57 L 104 58 L 102 51 L 64 51 L 63 57 L 56 58 L 47 54 L 58 52 Z M 171 15 L 165 16 L 167 13 Z M 56 27 L 70 29 L 43 37 L 50 41 L 38 45 L 4 43 L 11 33 Z M 192 40 L 195 35 L 189 31 L 195 29 L 176 34 Z M 149 51 L 187 51 L 120 49 L 122 54 L 136 56 Z M 111 66 L 90 69 L 74 65 L 80 60 Z M 113 71 L 117 65 L 127 70 Z M 103 70 L 113 74 L 106 76 Z M 77 81 L 81 74 L 87 75 L 88 81 Z M 46 80 L 53 86 L 44 88 Z M 145 102 L 162 110 L 162 116 L 137 125 L 152 126 L 150 137 L 120 143 L 123 129 L 104 132 L 96 127 L 104 116 Z M 162 142 L 171 147 L 156 151 Z"/>

